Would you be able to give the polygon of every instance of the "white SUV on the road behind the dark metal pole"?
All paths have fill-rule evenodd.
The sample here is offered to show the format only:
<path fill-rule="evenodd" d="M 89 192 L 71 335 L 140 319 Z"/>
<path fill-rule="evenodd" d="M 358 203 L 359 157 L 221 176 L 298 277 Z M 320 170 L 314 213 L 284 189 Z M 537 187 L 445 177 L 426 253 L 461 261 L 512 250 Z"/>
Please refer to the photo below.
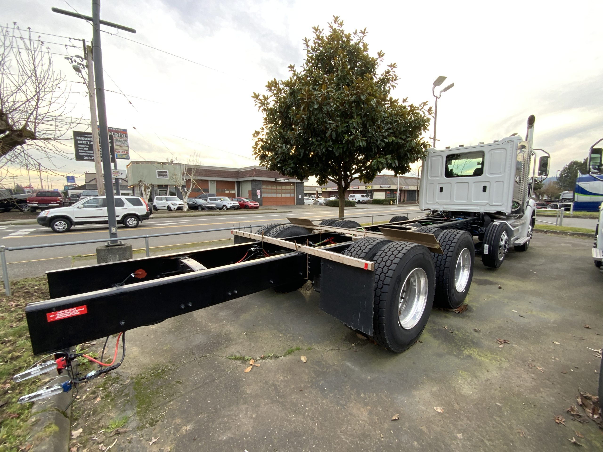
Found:
<path fill-rule="evenodd" d="M 151 216 L 147 202 L 138 196 L 115 196 L 115 214 L 118 224 L 135 228 Z M 107 198 L 91 196 L 73 206 L 44 210 L 37 217 L 38 224 L 55 232 L 67 232 L 82 224 L 108 224 Z"/>

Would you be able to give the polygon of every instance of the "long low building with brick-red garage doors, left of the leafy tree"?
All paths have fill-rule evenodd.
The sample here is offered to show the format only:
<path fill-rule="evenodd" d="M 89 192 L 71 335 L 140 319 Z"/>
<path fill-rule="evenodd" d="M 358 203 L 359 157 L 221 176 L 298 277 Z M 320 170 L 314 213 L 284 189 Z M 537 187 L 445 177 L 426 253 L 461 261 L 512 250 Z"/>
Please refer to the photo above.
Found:
<path fill-rule="evenodd" d="M 151 185 L 150 198 L 158 195 L 174 195 L 182 198 L 175 181 L 184 174 L 183 164 L 169 162 L 131 162 L 128 180 L 137 195 L 137 181 Z M 294 206 L 303 204 L 303 181 L 268 171 L 262 166 L 223 168 L 219 166 L 188 166 L 185 184 L 192 192 L 189 198 L 202 194 L 253 199 L 260 206 Z"/>

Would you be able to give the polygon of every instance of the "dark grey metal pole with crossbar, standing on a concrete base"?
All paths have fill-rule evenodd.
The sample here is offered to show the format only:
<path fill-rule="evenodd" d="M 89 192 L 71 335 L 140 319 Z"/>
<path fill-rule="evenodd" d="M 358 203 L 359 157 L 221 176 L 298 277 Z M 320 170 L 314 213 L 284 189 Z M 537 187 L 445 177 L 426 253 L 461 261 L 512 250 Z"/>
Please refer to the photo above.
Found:
<path fill-rule="evenodd" d="M 101 153 L 103 154 L 103 174 L 105 187 L 113 185 L 111 174 L 111 152 L 109 149 L 109 130 L 107 129 L 107 107 L 105 104 L 105 82 L 103 74 L 103 51 L 101 50 L 101 24 L 115 27 L 119 30 L 136 33 L 136 30 L 123 25 L 113 24 L 106 20 L 101 20 L 101 0 L 92 0 L 92 17 L 84 16 L 72 11 L 52 8 L 55 13 L 65 14 L 66 16 L 77 17 L 78 19 L 92 20 L 92 58 L 94 60 L 94 80 L 96 81 L 96 104 L 98 106 L 98 125 L 99 138 L 101 143 Z M 119 193 L 119 186 L 117 192 Z M 115 195 L 113 190 L 105 190 L 107 200 L 107 215 L 109 216 L 109 239 L 111 245 L 118 245 L 117 240 L 117 221 L 115 216 Z M 97 252 L 98 254 L 98 252 Z"/>

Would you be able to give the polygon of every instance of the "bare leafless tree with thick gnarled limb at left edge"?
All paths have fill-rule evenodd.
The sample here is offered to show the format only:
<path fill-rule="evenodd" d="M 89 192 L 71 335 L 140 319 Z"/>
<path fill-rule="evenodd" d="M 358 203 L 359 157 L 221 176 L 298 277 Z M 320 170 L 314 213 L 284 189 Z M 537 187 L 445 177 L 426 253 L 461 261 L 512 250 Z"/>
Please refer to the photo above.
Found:
<path fill-rule="evenodd" d="M 59 146 L 81 122 L 69 116 L 69 93 L 40 37 L 0 26 L 0 169 L 40 164 L 54 174 L 52 159 L 71 157 Z"/>

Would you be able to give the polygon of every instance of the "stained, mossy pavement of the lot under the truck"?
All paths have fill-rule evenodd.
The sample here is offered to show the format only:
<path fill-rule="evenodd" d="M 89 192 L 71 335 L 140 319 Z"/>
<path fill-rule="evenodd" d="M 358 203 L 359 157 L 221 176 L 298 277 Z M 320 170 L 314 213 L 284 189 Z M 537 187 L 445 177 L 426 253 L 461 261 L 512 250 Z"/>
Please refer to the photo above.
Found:
<path fill-rule="evenodd" d="M 72 428 L 106 446 L 103 422 L 127 415 L 114 450 L 552 451 L 573 450 L 572 438 L 601 450 L 597 425 L 566 413 L 598 385 L 589 347 L 603 345 L 603 275 L 591 246 L 537 234 L 500 269 L 478 257 L 467 310 L 433 310 L 402 354 L 321 312 L 309 285 L 129 331 L 118 377 L 83 389 Z M 238 356 L 260 366 L 245 373 Z"/>

